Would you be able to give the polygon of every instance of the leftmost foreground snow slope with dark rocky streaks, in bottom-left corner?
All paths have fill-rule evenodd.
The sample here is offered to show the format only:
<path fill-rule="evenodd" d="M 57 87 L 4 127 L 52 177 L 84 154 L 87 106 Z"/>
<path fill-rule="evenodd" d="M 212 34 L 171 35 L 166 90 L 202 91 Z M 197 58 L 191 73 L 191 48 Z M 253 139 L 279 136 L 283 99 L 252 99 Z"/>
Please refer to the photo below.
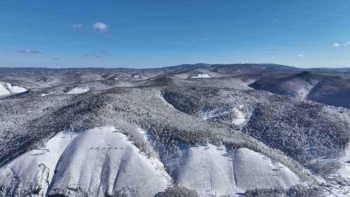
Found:
<path fill-rule="evenodd" d="M 38 190 L 45 195 L 58 159 L 76 134 L 60 132 L 44 148 L 34 149 L 0 168 L 0 185 L 7 185 L 0 196 L 25 196 L 26 191 Z M 41 189 L 40 189 L 41 188 Z"/>

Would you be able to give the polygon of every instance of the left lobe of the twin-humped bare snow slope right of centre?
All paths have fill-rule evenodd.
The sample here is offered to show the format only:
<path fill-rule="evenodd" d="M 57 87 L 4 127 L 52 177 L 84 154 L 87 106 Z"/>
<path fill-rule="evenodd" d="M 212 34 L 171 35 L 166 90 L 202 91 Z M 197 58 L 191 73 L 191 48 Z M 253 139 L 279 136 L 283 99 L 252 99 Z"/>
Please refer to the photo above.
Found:
<path fill-rule="evenodd" d="M 179 173 L 179 184 L 195 189 L 201 196 L 236 193 L 231 157 L 214 145 L 185 150 Z"/>

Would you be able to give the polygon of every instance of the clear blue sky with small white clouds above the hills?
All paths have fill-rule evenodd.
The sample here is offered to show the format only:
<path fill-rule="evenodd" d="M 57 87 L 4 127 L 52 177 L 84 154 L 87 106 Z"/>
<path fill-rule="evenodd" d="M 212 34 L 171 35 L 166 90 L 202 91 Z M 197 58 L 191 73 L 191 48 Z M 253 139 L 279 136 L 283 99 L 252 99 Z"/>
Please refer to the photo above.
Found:
<path fill-rule="evenodd" d="M 350 1 L 1 1 L 0 67 L 350 67 Z"/>

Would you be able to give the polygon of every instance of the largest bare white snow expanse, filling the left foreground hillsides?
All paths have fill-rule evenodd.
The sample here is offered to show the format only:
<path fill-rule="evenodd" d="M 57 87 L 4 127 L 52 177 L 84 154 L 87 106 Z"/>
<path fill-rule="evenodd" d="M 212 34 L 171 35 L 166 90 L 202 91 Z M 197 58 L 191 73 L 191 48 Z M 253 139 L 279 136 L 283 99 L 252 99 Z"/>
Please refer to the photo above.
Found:
<path fill-rule="evenodd" d="M 117 132 L 97 127 L 82 133 L 61 132 L 45 148 L 32 150 L 0 167 L 0 196 L 24 195 L 42 188 L 38 195 L 104 197 L 122 191 L 132 196 L 154 196 L 170 184 L 163 164 L 147 158 Z M 28 195 L 30 196 L 30 195 Z"/>

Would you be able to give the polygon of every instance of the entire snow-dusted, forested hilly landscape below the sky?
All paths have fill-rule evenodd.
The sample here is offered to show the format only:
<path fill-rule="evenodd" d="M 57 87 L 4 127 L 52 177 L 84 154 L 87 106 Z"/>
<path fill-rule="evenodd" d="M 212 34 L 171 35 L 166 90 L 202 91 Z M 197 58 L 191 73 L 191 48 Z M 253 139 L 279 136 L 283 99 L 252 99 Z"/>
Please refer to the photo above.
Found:
<path fill-rule="evenodd" d="M 0 71 L 2 197 L 350 192 L 346 72 L 276 64 Z"/>

